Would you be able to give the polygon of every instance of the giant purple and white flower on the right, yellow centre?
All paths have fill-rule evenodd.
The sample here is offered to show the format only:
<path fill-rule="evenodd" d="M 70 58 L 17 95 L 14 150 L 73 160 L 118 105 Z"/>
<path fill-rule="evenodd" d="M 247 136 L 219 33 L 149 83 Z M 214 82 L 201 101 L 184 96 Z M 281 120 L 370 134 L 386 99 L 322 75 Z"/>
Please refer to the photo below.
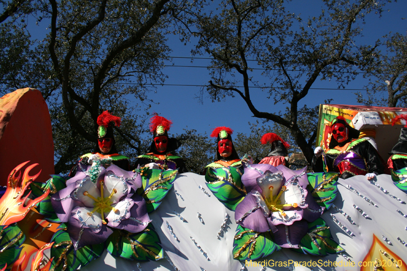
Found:
<path fill-rule="evenodd" d="M 323 212 L 307 191 L 305 170 L 245 164 L 242 183 L 248 194 L 236 207 L 236 223 L 257 232 L 271 230 L 277 245 L 298 248 L 307 233 L 307 222 Z"/>

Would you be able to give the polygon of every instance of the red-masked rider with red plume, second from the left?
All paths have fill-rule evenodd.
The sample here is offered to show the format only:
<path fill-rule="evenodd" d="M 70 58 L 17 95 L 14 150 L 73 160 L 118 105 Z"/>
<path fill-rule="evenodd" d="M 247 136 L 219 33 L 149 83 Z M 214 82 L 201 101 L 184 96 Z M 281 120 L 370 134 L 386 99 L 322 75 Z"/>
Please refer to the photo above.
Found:
<path fill-rule="evenodd" d="M 149 167 L 149 168 L 162 168 L 177 169 L 179 173 L 187 172 L 184 160 L 176 155 L 172 155 L 181 142 L 176 138 L 168 138 L 169 128 L 172 122 L 165 117 L 155 115 L 150 119 L 150 131 L 153 133 L 153 142 L 147 150 L 147 154 L 137 157 L 135 168 Z"/>

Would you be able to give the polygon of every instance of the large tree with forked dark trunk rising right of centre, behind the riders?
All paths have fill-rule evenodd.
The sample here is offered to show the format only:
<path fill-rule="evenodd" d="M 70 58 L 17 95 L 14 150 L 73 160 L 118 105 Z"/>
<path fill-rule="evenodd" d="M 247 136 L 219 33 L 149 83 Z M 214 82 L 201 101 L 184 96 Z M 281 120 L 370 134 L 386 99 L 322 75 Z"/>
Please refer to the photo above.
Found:
<path fill-rule="evenodd" d="M 319 15 L 310 18 L 286 11 L 282 0 L 224 0 L 209 5 L 208 12 L 194 14 L 184 33 L 198 38 L 195 55 L 213 57 L 208 93 L 214 101 L 240 96 L 253 116 L 288 128 L 310 162 L 316 129 L 306 136 L 308 131 L 300 125 L 301 100 L 316 80 L 336 80 L 344 87 L 354 79 L 358 66 L 371 62 L 374 46 L 359 44 L 357 38 L 365 15 L 380 14 L 383 1 L 323 1 Z M 265 71 L 258 75 L 257 67 Z M 286 104 L 287 110 L 259 111 L 251 98 L 258 87 L 265 98 Z"/>

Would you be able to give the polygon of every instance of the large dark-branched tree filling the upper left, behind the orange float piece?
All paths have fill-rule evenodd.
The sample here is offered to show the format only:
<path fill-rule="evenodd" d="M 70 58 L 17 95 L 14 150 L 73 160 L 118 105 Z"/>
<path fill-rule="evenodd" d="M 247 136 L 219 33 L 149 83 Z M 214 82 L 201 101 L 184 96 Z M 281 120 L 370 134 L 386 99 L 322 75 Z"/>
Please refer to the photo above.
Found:
<path fill-rule="evenodd" d="M 170 49 L 165 35 L 172 15 L 182 18 L 184 0 L 13 0 L 4 2 L 0 25 L 0 84 L 3 94 L 38 88 L 53 127 L 55 171 L 67 171 L 94 149 L 103 110 L 122 117 L 117 145 L 129 157 L 141 154 L 152 83 Z M 0 17 L 0 18 L 3 18 Z M 49 23 L 43 40 L 28 23 Z M 37 29 L 38 30 L 38 29 Z M 136 102 L 135 102 L 136 101 Z"/>

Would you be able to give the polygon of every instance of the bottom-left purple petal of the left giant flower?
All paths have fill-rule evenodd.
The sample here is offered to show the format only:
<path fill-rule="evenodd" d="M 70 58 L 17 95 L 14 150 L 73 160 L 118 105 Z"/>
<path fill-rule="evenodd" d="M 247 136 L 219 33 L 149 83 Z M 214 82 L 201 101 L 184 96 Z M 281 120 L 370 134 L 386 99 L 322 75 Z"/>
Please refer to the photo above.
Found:
<path fill-rule="evenodd" d="M 82 233 L 80 234 L 81 230 Z M 99 232 L 94 232 L 91 229 L 83 229 L 80 227 L 80 222 L 73 217 L 71 217 L 69 220 L 67 232 L 71 237 L 75 250 L 84 246 L 103 243 L 107 237 L 113 233 L 113 231 L 105 225 L 102 225 Z"/>

